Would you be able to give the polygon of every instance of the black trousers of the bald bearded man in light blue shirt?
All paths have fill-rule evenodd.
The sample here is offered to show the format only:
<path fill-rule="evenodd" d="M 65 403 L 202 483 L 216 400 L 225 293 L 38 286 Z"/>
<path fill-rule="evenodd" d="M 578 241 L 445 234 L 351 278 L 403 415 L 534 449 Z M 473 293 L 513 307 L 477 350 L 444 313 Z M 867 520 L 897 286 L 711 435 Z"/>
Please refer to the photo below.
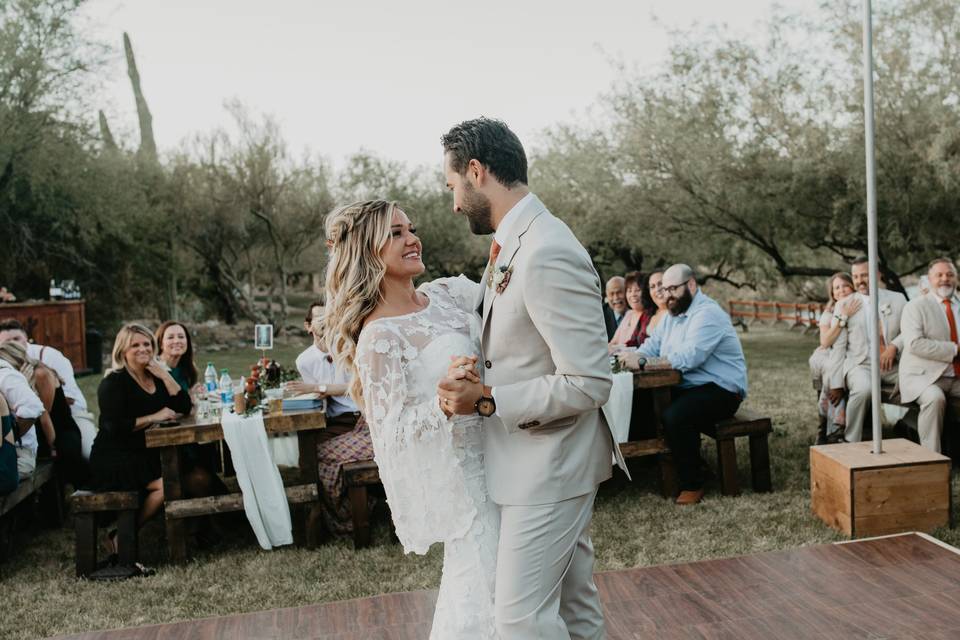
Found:
<path fill-rule="evenodd" d="M 663 411 L 663 431 L 677 464 L 681 491 L 703 487 L 700 468 L 700 432 L 731 417 L 742 398 L 720 385 L 671 390 L 670 404 Z"/>

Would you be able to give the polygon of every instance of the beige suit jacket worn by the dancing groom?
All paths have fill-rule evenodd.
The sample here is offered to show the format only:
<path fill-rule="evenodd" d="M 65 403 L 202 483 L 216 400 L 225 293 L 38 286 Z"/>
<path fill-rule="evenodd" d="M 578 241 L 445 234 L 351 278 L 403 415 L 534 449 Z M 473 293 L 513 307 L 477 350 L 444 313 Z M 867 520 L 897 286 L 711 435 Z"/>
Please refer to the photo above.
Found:
<path fill-rule="evenodd" d="M 497 402 L 484 420 L 487 486 L 497 504 L 549 504 L 594 491 L 611 451 L 623 464 L 600 409 L 612 386 L 600 278 L 536 196 L 512 216 L 496 260 L 507 285 L 497 293 L 485 274 L 476 301 Z"/>

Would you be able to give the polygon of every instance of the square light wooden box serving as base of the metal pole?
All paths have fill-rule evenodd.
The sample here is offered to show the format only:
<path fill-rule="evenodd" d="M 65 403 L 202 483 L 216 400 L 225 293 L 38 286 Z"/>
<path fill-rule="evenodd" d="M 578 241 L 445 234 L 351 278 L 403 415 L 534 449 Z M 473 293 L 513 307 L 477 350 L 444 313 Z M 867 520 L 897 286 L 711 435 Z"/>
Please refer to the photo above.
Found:
<path fill-rule="evenodd" d="M 848 536 L 927 531 L 950 521 L 950 458 L 909 440 L 810 447 L 813 513 Z"/>

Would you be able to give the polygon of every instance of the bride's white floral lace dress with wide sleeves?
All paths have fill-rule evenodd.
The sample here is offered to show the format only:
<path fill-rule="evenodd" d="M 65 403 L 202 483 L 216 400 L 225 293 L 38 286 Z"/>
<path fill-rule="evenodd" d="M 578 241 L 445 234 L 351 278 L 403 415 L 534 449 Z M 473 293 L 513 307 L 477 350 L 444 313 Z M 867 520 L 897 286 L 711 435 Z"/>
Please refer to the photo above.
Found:
<path fill-rule="evenodd" d="M 406 552 L 443 542 L 431 640 L 496 638 L 499 514 L 487 497 L 482 418 L 440 410 L 450 356 L 479 354 L 477 285 L 442 278 L 420 287 L 421 311 L 364 327 L 356 363 L 365 415 L 397 537 Z"/>

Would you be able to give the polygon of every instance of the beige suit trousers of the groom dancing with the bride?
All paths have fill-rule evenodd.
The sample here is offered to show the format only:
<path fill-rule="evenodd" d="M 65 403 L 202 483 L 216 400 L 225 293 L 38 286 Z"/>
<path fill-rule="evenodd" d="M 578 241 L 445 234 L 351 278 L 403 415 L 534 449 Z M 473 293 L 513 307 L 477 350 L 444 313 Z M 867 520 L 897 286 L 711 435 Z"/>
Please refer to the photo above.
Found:
<path fill-rule="evenodd" d="M 606 637 L 589 533 L 596 495 L 500 506 L 494 610 L 501 640 Z"/>

